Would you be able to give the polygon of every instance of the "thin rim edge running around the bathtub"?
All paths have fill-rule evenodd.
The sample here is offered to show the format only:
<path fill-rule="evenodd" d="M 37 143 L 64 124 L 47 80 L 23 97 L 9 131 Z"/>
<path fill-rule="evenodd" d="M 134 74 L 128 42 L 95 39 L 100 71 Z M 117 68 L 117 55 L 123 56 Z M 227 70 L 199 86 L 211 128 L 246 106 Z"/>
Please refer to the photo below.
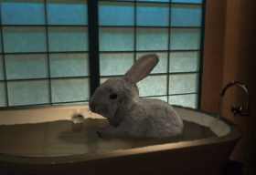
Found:
<path fill-rule="evenodd" d="M 77 106 L 84 106 L 84 105 L 73 105 L 74 107 Z M 203 111 L 196 108 L 187 108 L 183 106 L 177 106 L 172 105 L 176 108 L 184 108 L 188 110 L 192 110 L 195 112 L 200 112 L 206 115 L 209 115 L 211 117 L 216 118 L 217 115 Z M 72 106 L 66 106 L 66 105 L 57 105 L 57 106 L 36 106 L 34 108 L 65 108 L 65 107 L 72 107 Z M 6 108 L 4 110 L 22 110 L 22 109 L 29 109 L 29 108 Z M 0 112 L 3 110 L 3 108 L 0 108 Z M 231 123 L 226 118 L 220 118 L 223 122 L 229 125 L 230 132 L 228 135 L 223 137 L 214 137 L 214 138 L 208 138 L 208 139 L 196 139 L 196 140 L 189 140 L 189 141 L 180 141 L 175 143 L 165 143 L 165 144 L 156 144 L 152 146 L 146 146 L 142 148 L 133 148 L 133 149 L 118 149 L 118 150 L 112 150 L 109 152 L 101 152 L 97 154 L 77 154 L 77 155 L 71 155 L 71 156 L 59 156 L 59 157 L 42 157 L 42 156 L 17 156 L 17 155 L 10 155 L 5 153 L 0 153 L 0 162 L 1 163 L 12 163 L 12 164 L 27 164 L 27 165 L 60 165 L 60 164 L 71 164 L 71 163 L 81 163 L 81 162 L 87 162 L 90 160 L 105 160 L 105 159 L 114 159 L 118 157 L 125 157 L 125 156 L 133 156 L 133 155 L 142 155 L 146 153 L 154 153 L 154 152 L 161 152 L 164 150 L 176 150 L 176 149 L 188 149 L 191 147 L 198 147 L 198 146 L 207 146 L 211 144 L 218 144 L 218 143 L 224 143 L 229 142 L 232 140 L 238 140 L 240 139 L 240 132 L 238 129 L 235 128 L 234 124 Z"/>

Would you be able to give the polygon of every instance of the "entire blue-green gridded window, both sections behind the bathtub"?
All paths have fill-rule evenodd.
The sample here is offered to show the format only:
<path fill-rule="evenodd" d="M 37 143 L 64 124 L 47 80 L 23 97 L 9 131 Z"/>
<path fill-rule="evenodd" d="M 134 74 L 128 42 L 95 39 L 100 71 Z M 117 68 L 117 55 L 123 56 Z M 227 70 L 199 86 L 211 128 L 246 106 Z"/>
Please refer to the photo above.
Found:
<path fill-rule="evenodd" d="M 156 53 L 160 62 L 138 84 L 141 97 L 197 108 L 204 5 L 2 0 L 0 107 L 87 102 L 95 81 L 121 77 L 138 57 Z"/>

